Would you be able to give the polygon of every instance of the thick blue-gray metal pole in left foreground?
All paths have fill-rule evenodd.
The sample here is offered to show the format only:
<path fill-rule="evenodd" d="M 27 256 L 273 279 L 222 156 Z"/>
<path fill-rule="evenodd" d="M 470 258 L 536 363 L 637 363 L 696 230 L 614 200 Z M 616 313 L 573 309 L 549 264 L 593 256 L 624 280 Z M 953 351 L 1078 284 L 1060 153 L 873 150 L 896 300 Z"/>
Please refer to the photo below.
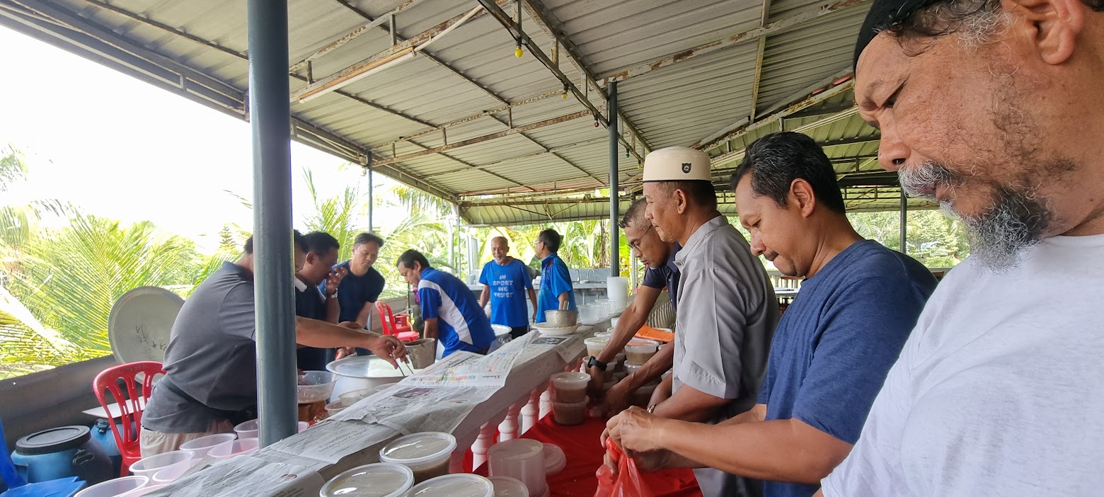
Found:
<path fill-rule="evenodd" d="M 287 1 L 248 0 L 254 298 L 261 444 L 297 431 Z"/>

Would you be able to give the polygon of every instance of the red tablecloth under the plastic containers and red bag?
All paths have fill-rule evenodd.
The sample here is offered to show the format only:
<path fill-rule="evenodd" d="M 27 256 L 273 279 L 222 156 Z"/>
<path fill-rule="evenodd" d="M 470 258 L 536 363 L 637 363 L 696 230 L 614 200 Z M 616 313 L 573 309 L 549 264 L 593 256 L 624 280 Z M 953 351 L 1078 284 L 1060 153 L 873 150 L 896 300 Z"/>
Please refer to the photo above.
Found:
<path fill-rule="evenodd" d="M 594 473 L 602 465 L 605 450 L 598 444 L 598 436 L 605 427 L 605 422 L 588 419 L 578 426 L 561 426 L 552 421 L 549 414 L 531 430 L 521 435 L 524 438 L 552 443 L 563 448 L 567 456 L 567 467 L 555 475 L 549 476 L 549 488 L 553 497 L 593 497 L 598 486 Z M 470 455 L 465 467 L 471 467 Z M 474 473 L 486 476 L 487 465 L 484 464 Z M 658 473 L 645 473 L 644 480 L 656 497 L 700 497 L 698 482 L 690 469 L 665 469 Z"/>

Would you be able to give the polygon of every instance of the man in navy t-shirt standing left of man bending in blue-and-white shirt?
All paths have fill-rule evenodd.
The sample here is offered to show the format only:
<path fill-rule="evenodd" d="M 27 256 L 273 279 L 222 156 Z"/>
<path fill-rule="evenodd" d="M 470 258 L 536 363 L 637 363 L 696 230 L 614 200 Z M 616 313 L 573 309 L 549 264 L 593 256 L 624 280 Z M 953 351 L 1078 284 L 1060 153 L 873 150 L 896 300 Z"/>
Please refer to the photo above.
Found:
<path fill-rule="evenodd" d="M 379 271 L 372 267 L 380 257 L 383 239 L 372 233 L 361 233 L 352 242 L 352 258 L 333 266 L 335 272 L 343 272 L 344 277 L 338 285 L 338 304 L 341 322 L 357 321 L 362 328 L 372 329 L 372 309 L 375 300 L 383 292 L 384 279 Z M 319 289 L 325 290 L 322 285 Z M 363 356 L 365 350 L 357 350 Z"/>

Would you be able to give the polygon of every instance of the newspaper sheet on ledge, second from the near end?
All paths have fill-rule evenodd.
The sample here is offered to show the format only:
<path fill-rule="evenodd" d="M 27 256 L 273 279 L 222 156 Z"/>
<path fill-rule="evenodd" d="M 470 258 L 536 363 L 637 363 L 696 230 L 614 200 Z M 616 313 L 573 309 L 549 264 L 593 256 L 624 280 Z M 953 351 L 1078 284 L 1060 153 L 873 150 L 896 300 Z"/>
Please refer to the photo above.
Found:
<path fill-rule="evenodd" d="M 342 413 L 343 414 L 343 413 Z M 333 416 L 267 447 L 284 454 L 338 464 L 343 457 L 399 435 L 386 425 L 341 421 Z"/>

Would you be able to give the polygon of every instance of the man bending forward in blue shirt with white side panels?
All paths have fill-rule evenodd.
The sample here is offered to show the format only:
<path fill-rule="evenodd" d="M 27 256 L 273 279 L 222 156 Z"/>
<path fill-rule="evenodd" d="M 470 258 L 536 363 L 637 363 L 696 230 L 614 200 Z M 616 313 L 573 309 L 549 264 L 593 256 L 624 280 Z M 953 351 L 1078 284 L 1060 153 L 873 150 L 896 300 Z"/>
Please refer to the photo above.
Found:
<path fill-rule="evenodd" d="M 457 350 L 487 353 L 495 341 L 490 320 L 479 302 L 460 278 L 429 267 L 418 251 L 406 251 L 395 264 L 406 283 L 417 288 L 425 321 L 423 338 L 436 338 L 448 357 Z"/>

